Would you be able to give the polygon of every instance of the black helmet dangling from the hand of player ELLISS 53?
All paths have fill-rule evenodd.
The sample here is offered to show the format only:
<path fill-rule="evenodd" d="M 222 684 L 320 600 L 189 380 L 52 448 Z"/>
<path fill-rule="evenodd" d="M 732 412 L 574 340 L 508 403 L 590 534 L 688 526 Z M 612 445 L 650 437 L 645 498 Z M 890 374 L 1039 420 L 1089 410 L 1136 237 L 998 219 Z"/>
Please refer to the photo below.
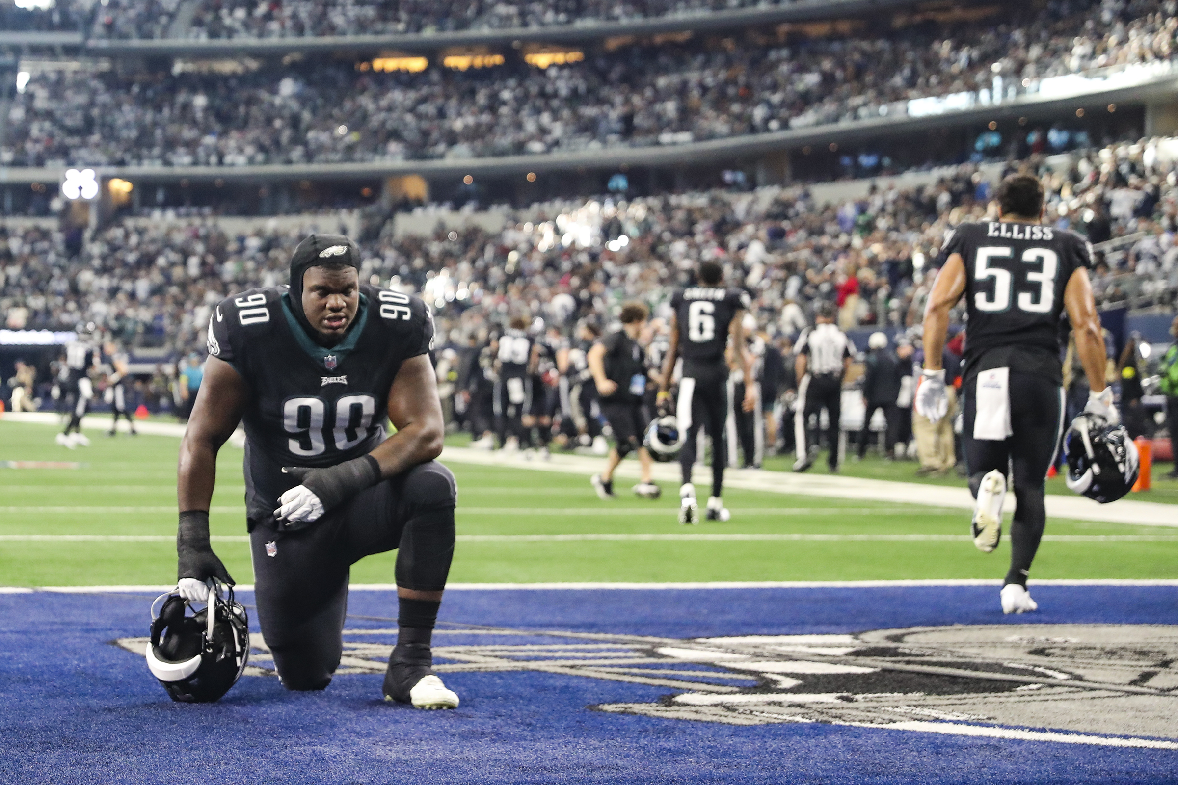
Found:
<path fill-rule="evenodd" d="M 1137 483 L 1137 445 L 1123 425 L 1081 414 L 1064 435 L 1067 487 L 1100 504 L 1116 501 Z"/>

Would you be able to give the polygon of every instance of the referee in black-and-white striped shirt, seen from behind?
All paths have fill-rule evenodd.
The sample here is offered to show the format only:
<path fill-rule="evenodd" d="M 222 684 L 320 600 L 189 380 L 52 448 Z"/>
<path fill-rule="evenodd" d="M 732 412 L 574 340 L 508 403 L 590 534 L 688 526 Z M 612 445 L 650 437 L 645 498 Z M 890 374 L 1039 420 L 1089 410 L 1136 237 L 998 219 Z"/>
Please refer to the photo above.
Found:
<path fill-rule="evenodd" d="M 827 441 L 830 473 L 839 471 L 839 415 L 842 404 L 842 378 L 851 366 L 854 345 L 834 324 L 834 304 L 822 302 L 814 313 L 814 328 L 798 339 L 798 404 L 794 408 L 794 439 L 798 445 L 795 472 L 814 465 L 818 454 L 821 411 L 829 419 Z M 810 417 L 814 418 L 813 428 Z"/>

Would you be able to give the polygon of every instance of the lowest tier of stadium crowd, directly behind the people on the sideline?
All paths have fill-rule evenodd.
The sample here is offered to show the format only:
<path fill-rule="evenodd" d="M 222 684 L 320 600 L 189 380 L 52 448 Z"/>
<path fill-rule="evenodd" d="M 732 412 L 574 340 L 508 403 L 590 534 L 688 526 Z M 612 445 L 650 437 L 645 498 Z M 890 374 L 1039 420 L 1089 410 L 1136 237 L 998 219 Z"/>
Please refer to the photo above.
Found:
<path fill-rule="evenodd" d="M 1094 286 L 1103 302 L 1176 299 L 1171 144 L 1118 144 L 1076 155 L 1063 169 L 1041 158 L 1030 164 L 1044 177 L 1058 226 L 1098 242 L 1127 239 L 1114 259 L 1098 253 Z M 629 299 L 659 314 L 700 259 L 722 261 L 730 279 L 755 295 L 761 325 L 775 333 L 795 334 L 823 300 L 836 301 L 843 327 L 907 327 L 920 321 L 926 273 L 944 232 L 984 215 L 990 187 L 966 165 L 913 189 L 882 179 L 865 198 L 843 204 L 815 204 L 796 187 L 548 202 L 499 232 L 470 227 L 430 237 L 396 237 L 390 219 L 362 244 L 363 275 L 423 292 L 458 342 L 518 310 L 563 327 L 605 320 Z M 93 321 L 123 344 L 185 353 L 203 346 L 212 304 L 233 291 L 284 282 L 299 239 L 299 232 L 266 231 L 230 237 L 212 220 L 130 218 L 88 239 L 6 229 L 0 313 L 13 328 Z"/>

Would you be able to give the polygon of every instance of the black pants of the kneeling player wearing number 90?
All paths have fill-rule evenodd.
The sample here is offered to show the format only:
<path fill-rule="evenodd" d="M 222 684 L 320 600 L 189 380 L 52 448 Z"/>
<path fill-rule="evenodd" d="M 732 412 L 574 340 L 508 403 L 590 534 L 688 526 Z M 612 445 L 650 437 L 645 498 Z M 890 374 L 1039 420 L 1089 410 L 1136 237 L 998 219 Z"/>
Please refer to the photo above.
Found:
<path fill-rule="evenodd" d="M 349 571 L 359 559 L 397 550 L 398 586 L 445 587 L 456 499 L 454 474 L 430 461 L 362 491 L 303 531 L 253 528 L 258 621 L 287 690 L 323 690 L 331 683 L 343 653 Z"/>

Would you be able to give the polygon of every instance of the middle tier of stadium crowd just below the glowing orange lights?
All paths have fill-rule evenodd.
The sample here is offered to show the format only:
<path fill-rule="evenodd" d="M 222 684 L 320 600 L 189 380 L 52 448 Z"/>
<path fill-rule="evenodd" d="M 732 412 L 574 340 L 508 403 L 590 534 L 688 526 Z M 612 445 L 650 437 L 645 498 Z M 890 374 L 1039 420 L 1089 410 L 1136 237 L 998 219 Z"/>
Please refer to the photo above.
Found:
<path fill-rule="evenodd" d="M 1176 9 L 1178 0 L 1060 0 L 1001 22 L 768 48 L 631 47 L 547 69 L 40 72 L 9 109 L 0 164 L 466 158 L 765 133 L 879 117 L 894 101 L 981 88 L 1005 95 L 1024 80 L 1169 60 Z"/>

